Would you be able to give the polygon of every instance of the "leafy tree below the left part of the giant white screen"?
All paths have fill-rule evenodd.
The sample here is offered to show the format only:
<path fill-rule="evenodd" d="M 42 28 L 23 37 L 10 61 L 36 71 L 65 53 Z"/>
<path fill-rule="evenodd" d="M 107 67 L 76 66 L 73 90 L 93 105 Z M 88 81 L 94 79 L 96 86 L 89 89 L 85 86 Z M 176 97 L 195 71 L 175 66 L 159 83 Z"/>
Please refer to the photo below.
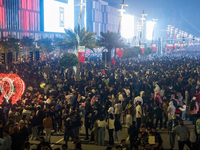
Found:
<path fill-rule="evenodd" d="M 55 50 L 55 44 L 50 38 L 41 38 L 37 41 L 37 46 L 40 47 L 40 51 L 46 56 Z"/>

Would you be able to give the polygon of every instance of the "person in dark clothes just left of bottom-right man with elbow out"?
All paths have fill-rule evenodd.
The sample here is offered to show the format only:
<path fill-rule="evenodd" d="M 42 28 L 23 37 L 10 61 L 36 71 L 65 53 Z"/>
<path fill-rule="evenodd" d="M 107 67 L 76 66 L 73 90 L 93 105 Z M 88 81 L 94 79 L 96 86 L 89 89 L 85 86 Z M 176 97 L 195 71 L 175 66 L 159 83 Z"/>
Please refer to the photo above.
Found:
<path fill-rule="evenodd" d="M 173 115 L 172 119 L 170 119 L 167 124 L 167 132 L 169 135 L 169 141 L 170 141 L 170 147 L 171 147 L 170 150 L 174 149 L 175 137 L 176 137 L 176 134 L 172 130 L 178 125 L 179 125 L 178 120 L 176 119 L 176 116 Z"/>

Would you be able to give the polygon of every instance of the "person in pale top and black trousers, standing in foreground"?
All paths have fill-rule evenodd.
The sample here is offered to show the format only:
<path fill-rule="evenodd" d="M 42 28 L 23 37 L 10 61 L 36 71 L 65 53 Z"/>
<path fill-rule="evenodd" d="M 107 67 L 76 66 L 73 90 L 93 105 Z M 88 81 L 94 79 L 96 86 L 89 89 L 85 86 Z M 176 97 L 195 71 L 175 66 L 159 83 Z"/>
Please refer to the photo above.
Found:
<path fill-rule="evenodd" d="M 113 117 L 113 114 L 110 114 L 108 116 L 108 134 L 109 134 L 109 145 L 114 144 L 114 138 L 113 138 L 113 130 L 115 129 L 115 120 Z"/>

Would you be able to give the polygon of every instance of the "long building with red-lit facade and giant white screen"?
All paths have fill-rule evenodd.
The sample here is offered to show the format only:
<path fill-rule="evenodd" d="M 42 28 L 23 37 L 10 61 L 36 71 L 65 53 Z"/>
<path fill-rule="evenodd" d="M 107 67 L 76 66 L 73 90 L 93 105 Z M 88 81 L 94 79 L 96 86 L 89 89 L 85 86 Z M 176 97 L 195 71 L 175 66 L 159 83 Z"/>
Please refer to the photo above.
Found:
<path fill-rule="evenodd" d="M 81 27 L 90 31 L 118 31 L 119 12 L 102 0 L 0 0 L 0 38 L 31 36 L 53 38 L 64 29 L 78 26 L 80 6 L 83 6 Z"/>

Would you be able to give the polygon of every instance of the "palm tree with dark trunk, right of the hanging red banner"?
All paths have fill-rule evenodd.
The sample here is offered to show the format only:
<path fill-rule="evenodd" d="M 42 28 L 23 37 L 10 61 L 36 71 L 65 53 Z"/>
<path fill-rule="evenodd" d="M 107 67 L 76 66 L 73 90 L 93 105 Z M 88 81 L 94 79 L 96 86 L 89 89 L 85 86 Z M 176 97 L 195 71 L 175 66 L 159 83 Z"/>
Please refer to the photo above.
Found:
<path fill-rule="evenodd" d="M 109 68 L 111 68 L 111 51 L 113 48 L 124 48 L 125 44 L 121 39 L 120 33 L 110 32 L 107 33 L 101 32 L 101 37 L 99 38 L 99 45 L 108 50 L 108 60 Z M 105 65 L 107 66 L 107 60 L 105 59 Z"/>

